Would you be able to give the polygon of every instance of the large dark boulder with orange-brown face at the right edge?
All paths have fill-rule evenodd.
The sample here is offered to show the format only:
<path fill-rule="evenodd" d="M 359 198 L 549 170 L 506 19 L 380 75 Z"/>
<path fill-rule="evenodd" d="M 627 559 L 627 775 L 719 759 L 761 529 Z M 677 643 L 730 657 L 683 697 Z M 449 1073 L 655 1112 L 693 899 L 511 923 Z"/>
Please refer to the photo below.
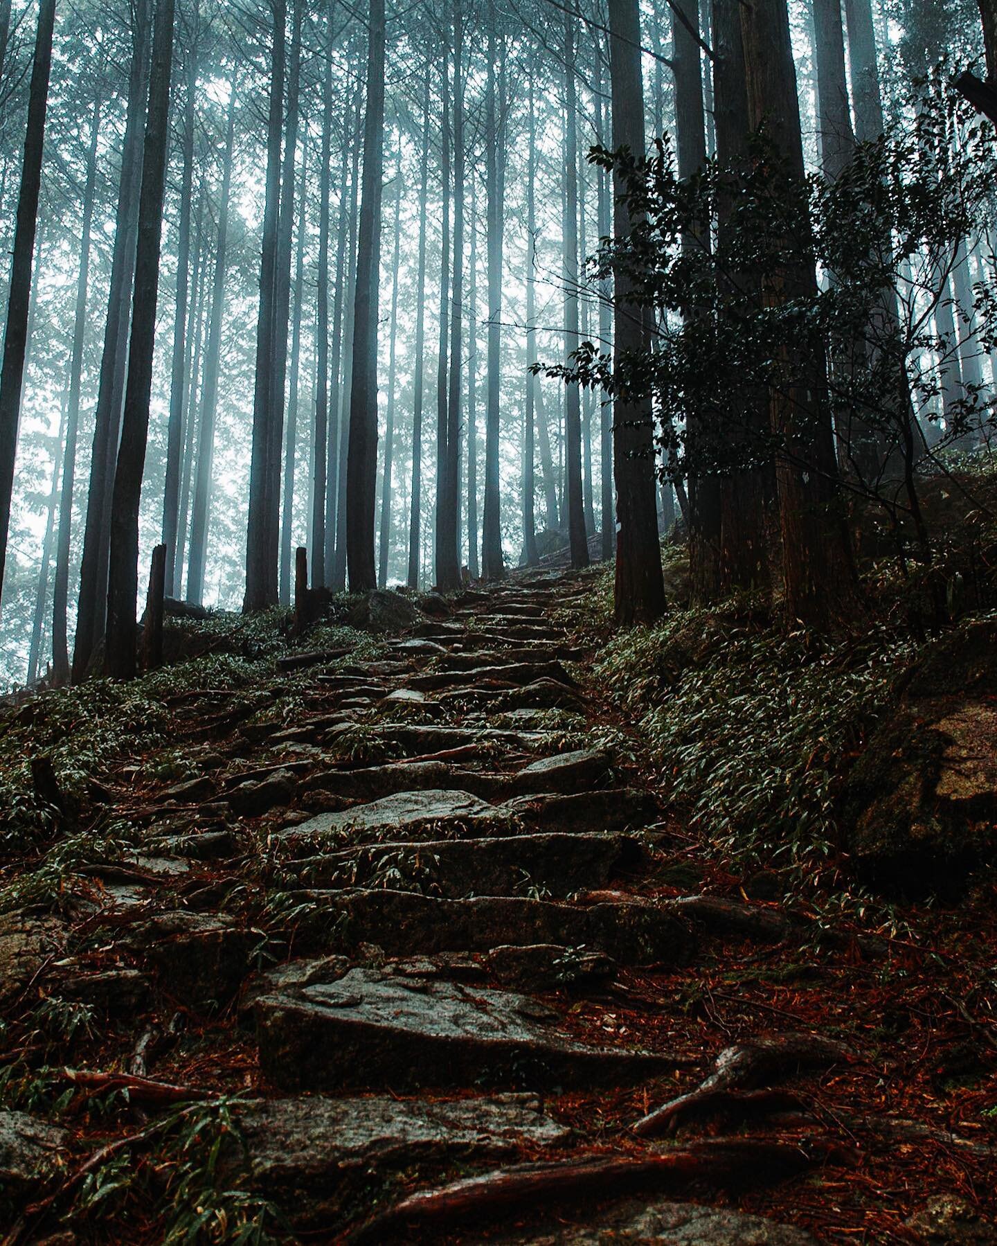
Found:
<path fill-rule="evenodd" d="M 849 775 L 842 822 L 856 872 L 886 891 L 955 896 L 997 844 L 997 633 L 932 645 Z"/>

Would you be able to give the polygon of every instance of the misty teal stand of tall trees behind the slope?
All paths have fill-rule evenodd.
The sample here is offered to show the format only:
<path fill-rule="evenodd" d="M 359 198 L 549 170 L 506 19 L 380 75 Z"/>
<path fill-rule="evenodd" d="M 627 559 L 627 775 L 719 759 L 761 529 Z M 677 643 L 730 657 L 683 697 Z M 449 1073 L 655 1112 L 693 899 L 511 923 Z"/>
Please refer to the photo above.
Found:
<path fill-rule="evenodd" d="M 462 568 L 496 577 L 568 545 L 576 563 L 612 556 L 628 471 L 651 496 L 652 429 L 658 531 L 677 520 L 689 530 L 700 597 L 710 577 L 713 588 L 756 586 L 773 562 L 748 541 L 740 579 L 710 568 L 710 481 L 744 485 L 740 502 L 717 486 L 715 548 L 730 553 L 722 528 L 732 522 L 751 527 L 738 516 L 781 508 L 765 540 L 781 543 L 785 574 L 803 574 L 794 549 L 803 562 L 818 551 L 828 591 L 844 601 L 849 577 L 836 564 L 846 556 L 826 531 L 794 536 L 794 487 L 813 490 L 818 477 L 825 487 L 799 515 L 830 506 L 828 491 L 844 482 L 849 500 L 881 506 L 884 527 L 902 530 L 916 556 L 914 477 L 990 454 L 991 127 L 953 88 L 966 70 L 986 75 L 980 11 L 973 0 L 755 7 L 756 29 L 734 49 L 738 6 L 727 0 L 652 0 L 639 14 L 623 0 L 416 0 L 386 12 L 381 0 L 75 0 L 55 14 L 49 0 L 41 11 L 0 0 L 0 234 L 14 253 L 0 309 L 24 320 L 25 350 L 20 379 L 9 324 L 0 422 L 4 454 L 16 435 L 16 464 L 0 680 L 31 683 L 54 660 L 62 680 L 70 664 L 77 677 L 92 667 L 108 559 L 112 594 L 145 596 L 160 542 L 167 597 L 224 609 L 289 603 L 298 546 L 313 584 L 333 591 L 371 578 L 452 588 Z M 798 126 L 771 31 L 789 35 Z M 623 62 L 643 81 L 624 80 Z M 740 103 L 724 66 L 740 69 Z M 970 78 L 966 93 L 973 81 L 987 91 Z M 26 242 L 32 83 L 44 150 Z M 740 202 L 756 216 L 765 196 L 793 212 L 804 204 L 816 243 L 781 253 L 775 268 L 756 258 L 755 269 L 764 290 L 781 265 L 796 319 L 820 336 L 810 349 L 779 319 L 778 299 L 758 304 L 768 330 L 702 310 L 703 290 L 724 280 L 715 257 L 732 219 L 732 142 L 770 113 Z M 628 128 L 631 150 L 643 141 L 657 163 L 611 156 Z M 806 178 L 794 182 L 796 148 Z M 766 151 L 785 161 L 781 172 Z M 761 184 L 758 169 L 774 181 Z M 627 184 L 636 198 L 621 227 Z M 886 187 L 885 206 L 870 223 L 875 187 Z M 748 270 L 758 221 L 744 228 Z M 859 259 L 842 253 L 845 237 Z M 601 239 L 602 259 L 588 262 Z M 810 285 L 794 288 L 808 263 Z M 614 333 L 642 318 L 633 375 L 626 359 L 614 370 Z M 769 366 L 778 354 L 765 331 L 790 343 L 783 378 L 796 395 L 814 353 L 830 360 L 830 460 L 821 415 L 803 434 L 765 417 L 774 440 L 766 434 L 764 454 L 744 421 L 737 435 L 723 424 L 720 407 L 744 406 L 761 381 L 778 388 L 770 371 L 753 371 L 753 358 Z M 146 338 L 147 444 L 136 354 Z M 578 351 L 582 343 L 593 346 Z M 876 386 L 889 401 L 870 397 Z M 611 399 L 646 404 L 629 434 L 617 421 L 617 439 L 637 429 L 637 442 L 618 450 L 616 482 Z M 870 410 L 859 412 L 862 402 Z M 761 459 L 776 465 L 778 507 L 765 501 Z M 136 558 L 127 500 L 140 482 Z M 621 505 L 626 532 L 637 522 L 628 493 Z M 637 581 L 621 587 L 618 574 L 617 591 L 649 592 L 648 609 L 638 601 L 631 617 L 651 617 L 657 589 Z M 808 586 L 796 587 L 804 603 Z"/>

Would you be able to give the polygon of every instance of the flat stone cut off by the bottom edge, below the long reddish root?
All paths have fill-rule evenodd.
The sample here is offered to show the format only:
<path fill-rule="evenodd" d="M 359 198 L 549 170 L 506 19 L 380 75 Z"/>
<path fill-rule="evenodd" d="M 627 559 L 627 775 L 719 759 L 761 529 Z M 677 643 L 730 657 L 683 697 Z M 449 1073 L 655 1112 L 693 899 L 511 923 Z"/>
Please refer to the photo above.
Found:
<path fill-rule="evenodd" d="M 780 1225 L 765 1216 L 751 1216 L 730 1207 L 703 1207 L 695 1202 L 642 1202 L 628 1200 L 621 1206 L 586 1215 L 566 1211 L 553 1230 L 537 1227 L 530 1232 L 500 1234 L 500 1246 L 611 1246 L 614 1242 L 661 1242 L 662 1246 L 818 1246 L 815 1237 Z M 575 1221 L 563 1224 L 563 1220 Z M 593 1221 L 596 1221 L 593 1224 Z"/>

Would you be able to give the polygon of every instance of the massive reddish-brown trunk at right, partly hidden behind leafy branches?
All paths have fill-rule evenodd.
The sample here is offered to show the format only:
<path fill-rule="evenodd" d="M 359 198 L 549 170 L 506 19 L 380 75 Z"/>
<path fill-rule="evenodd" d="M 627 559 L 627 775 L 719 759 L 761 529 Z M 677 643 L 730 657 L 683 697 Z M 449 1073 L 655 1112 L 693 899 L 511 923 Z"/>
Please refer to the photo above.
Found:
<path fill-rule="evenodd" d="M 786 0 L 755 0 L 742 9 L 748 117 L 763 122 L 790 176 L 803 179 L 796 72 L 789 36 Z M 809 298 L 816 277 L 806 239 L 780 240 L 788 255 L 765 299 Z M 796 252 L 794 257 L 793 252 Z M 773 388 L 769 412 L 776 450 L 779 523 L 783 538 L 783 582 L 790 618 L 826 625 L 854 598 L 854 569 L 847 531 L 840 512 L 837 465 L 826 402 L 826 361 L 815 343 L 805 358 L 786 358 L 796 383 Z"/>

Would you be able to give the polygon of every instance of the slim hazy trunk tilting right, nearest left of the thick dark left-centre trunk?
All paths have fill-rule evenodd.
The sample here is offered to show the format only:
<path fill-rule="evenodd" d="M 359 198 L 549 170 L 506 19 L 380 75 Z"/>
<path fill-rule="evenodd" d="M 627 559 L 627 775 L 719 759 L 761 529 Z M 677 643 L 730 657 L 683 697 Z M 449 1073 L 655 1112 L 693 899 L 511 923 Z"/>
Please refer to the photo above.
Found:
<path fill-rule="evenodd" d="M 222 318 L 226 304 L 226 252 L 228 248 L 228 206 L 232 196 L 232 152 L 236 138 L 236 76 L 229 83 L 228 130 L 222 167 L 222 192 L 218 202 L 218 245 L 212 278 L 211 324 L 204 351 L 204 380 L 201 386 L 201 425 L 197 441 L 197 472 L 191 513 L 191 553 L 187 563 L 187 601 L 201 606 L 204 599 L 204 563 L 211 520 L 212 461 L 214 459 L 214 416 L 218 409 L 218 371 L 222 356 Z"/>

